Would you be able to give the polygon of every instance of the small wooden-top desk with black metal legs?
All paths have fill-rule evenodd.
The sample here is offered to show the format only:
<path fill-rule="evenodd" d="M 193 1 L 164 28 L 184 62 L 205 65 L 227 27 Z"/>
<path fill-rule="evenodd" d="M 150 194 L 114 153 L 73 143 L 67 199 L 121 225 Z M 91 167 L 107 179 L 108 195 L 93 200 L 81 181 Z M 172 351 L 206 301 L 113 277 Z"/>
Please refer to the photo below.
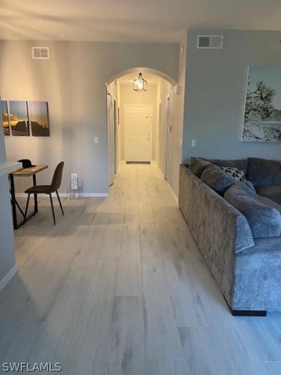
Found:
<path fill-rule="evenodd" d="M 9 174 L 14 229 L 19 229 L 25 223 L 25 221 L 29 220 L 32 216 L 34 216 L 38 212 L 37 194 L 34 194 L 34 211 L 33 211 L 33 213 L 31 215 L 29 215 L 26 218 L 25 221 L 22 220 L 18 224 L 17 208 L 19 209 L 23 218 L 24 218 L 24 212 L 22 211 L 19 203 L 16 200 L 14 177 L 15 176 L 16 177 L 31 177 L 32 176 L 33 186 L 36 186 L 36 174 L 39 173 L 41 170 L 44 170 L 44 169 L 47 169 L 47 168 L 48 168 L 48 166 L 35 166 L 35 167 L 21 168 L 19 170 L 16 170 L 15 172 Z"/>

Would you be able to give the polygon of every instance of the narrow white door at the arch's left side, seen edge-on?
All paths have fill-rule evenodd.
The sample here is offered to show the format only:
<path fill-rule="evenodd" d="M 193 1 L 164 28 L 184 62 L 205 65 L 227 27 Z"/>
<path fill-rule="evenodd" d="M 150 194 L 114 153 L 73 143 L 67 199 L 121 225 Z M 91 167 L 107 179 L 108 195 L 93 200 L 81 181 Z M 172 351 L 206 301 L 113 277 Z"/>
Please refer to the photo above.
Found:
<path fill-rule="evenodd" d="M 107 94 L 107 142 L 108 142 L 108 175 L 109 186 L 114 183 L 115 175 L 115 121 L 114 101 L 111 95 Z"/>

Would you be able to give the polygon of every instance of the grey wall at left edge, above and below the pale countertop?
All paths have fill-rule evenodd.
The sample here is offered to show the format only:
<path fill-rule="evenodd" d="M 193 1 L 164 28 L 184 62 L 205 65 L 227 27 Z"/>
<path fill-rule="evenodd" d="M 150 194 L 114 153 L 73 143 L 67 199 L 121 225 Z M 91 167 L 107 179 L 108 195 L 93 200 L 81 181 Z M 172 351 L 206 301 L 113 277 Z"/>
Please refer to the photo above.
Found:
<path fill-rule="evenodd" d="M 0 162 L 6 161 L 4 132 L 0 117 Z M 15 266 L 14 233 L 8 175 L 0 176 L 0 281 Z"/>

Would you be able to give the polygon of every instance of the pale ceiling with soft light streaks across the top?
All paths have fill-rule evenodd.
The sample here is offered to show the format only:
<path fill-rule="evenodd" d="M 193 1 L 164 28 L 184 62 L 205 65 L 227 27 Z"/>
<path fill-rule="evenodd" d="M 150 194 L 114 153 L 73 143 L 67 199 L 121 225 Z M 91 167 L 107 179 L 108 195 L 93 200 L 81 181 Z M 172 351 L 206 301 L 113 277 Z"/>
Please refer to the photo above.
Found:
<path fill-rule="evenodd" d="M 187 28 L 281 30 L 280 0 L 1 0 L 0 39 L 179 42 Z"/>

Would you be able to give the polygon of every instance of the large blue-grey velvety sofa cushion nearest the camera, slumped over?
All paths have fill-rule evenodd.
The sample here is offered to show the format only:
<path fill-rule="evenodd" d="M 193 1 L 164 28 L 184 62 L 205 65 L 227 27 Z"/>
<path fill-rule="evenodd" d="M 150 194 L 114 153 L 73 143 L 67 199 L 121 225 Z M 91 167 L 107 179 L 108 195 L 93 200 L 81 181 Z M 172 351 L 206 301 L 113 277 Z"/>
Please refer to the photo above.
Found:
<path fill-rule="evenodd" d="M 223 198 L 246 217 L 254 238 L 281 236 L 280 212 L 258 201 L 255 187 L 250 181 L 231 186 Z"/>

